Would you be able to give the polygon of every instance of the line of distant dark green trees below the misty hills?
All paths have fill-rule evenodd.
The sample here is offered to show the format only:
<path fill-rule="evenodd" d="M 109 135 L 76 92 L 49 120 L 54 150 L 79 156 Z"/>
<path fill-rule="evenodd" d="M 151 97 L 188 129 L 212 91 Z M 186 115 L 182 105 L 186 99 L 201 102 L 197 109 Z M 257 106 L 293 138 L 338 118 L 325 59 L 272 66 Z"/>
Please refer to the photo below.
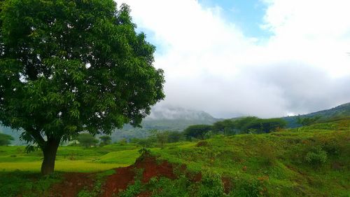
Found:
<path fill-rule="evenodd" d="M 316 118 L 300 118 L 300 123 L 307 125 L 310 122 L 316 121 Z M 192 140 L 205 140 L 211 137 L 211 135 L 237 135 L 237 134 L 260 134 L 270 133 L 281 130 L 286 127 L 286 121 L 281 118 L 257 118 L 254 116 L 248 116 L 244 118 L 226 119 L 218 121 L 214 125 L 190 125 L 188 128 L 179 131 L 163 131 L 163 130 L 151 130 L 151 135 L 148 138 L 139 139 L 133 138 L 129 140 L 134 144 L 139 144 L 142 147 L 165 147 L 167 143 L 175 143 L 181 141 Z M 10 144 L 10 140 L 13 138 L 10 135 L 3 135 L 0 133 L 0 145 Z M 103 135 L 99 137 L 99 140 L 90 133 L 80 133 L 75 137 L 70 145 L 80 145 L 85 148 L 105 146 L 112 143 L 111 136 Z M 127 140 L 118 142 L 120 144 L 127 143 Z"/>

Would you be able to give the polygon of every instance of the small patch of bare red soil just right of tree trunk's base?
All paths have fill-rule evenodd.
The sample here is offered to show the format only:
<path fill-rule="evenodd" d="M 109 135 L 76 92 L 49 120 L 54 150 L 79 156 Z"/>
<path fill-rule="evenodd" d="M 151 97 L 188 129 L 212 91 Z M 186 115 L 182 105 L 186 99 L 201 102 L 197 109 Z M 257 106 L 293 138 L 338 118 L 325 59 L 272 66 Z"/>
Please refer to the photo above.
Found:
<path fill-rule="evenodd" d="M 64 174 L 63 182 L 54 184 L 50 189 L 52 197 L 75 197 L 85 186 L 92 188 L 94 175 L 91 173 L 69 172 Z"/>

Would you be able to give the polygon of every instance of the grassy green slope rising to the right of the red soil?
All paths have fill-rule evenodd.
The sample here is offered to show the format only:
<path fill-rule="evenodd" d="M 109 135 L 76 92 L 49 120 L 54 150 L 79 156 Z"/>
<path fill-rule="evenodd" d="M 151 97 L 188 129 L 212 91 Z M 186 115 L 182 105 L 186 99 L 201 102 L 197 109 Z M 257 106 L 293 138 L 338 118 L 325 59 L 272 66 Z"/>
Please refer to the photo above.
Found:
<path fill-rule="evenodd" d="M 327 153 L 325 163 L 307 162 L 312 147 Z M 234 185 L 261 180 L 271 196 L 350 195 L 349 121 L 265 135 L 217 136 L 200 147 L 192 143 L 155 154 L 190 170 L 216 172 Z"/>

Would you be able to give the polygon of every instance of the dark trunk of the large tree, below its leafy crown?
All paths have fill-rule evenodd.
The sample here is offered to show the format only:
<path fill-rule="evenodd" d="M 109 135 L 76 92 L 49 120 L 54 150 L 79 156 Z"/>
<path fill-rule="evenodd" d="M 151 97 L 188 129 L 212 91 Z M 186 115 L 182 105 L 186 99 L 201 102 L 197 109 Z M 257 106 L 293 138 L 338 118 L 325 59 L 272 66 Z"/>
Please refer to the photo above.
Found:
<path fill-rule="evenodd" d="M 41 174 L 48 175 L 55 169 L 56 153 L 59 146 L 59 140 L 48 139 L 43 147 L 43 163 L 41 164 Z"/>

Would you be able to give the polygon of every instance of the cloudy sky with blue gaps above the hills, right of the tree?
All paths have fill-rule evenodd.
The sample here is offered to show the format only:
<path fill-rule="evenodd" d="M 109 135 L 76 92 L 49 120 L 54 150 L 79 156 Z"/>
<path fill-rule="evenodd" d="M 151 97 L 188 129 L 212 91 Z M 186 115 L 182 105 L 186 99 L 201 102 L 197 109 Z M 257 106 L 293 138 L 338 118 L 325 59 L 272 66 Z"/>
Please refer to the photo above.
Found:
<path fill-rule="evenodd" d="M 217 118 L 350 102 L 349 0 L 123 0 L 171 105 Z"/>

